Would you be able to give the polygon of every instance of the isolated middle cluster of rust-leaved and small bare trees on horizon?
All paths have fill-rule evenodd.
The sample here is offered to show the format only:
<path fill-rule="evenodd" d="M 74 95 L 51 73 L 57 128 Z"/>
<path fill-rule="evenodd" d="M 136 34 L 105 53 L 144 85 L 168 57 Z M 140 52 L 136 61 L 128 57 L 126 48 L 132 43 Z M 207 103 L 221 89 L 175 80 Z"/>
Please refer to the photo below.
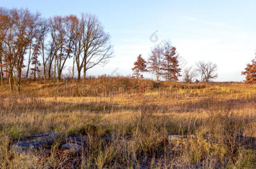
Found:
<path fill-rule="evenodd" d="M 181 68 L 178 61 L 179 54 L 170 42 L 166 42 L 162 46 L 152 48 L 147 61 L 138 55 L 134 62 L 133 78 L 143 78 L 144 72 L 150 72 L 155 75 L 157 82 L 162 77 L 167 81 L 178 81 L 181 77 Z M 196 78 L 200 75 L 201 82 L 209 82 L 211 79 L 217 78 L 217 65 L 212 62 L 199 61 L 196 67 L 187 67 L 183 70 L 184 82 L 199 82 Z"/>

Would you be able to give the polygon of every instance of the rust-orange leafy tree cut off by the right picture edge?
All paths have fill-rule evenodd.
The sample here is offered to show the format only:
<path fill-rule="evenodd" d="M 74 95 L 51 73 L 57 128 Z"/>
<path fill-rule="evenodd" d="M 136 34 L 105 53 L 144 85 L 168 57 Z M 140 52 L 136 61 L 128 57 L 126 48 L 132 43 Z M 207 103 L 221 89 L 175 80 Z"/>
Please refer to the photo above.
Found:
<path fill-rule="evenodd" d="M 246 75 L 245 83 L 256 84 L 256 57 L 252 60 L 252 63 L 246 65 L 245 71 L 242 71 L 242 75 Z"/>

